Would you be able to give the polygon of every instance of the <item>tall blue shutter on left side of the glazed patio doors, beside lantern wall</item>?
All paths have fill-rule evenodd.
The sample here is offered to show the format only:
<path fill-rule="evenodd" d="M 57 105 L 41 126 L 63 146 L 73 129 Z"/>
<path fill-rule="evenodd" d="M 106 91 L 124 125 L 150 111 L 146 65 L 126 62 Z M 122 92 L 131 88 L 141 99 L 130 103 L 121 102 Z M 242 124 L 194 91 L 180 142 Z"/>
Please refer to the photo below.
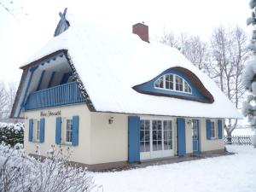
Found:
<path fill-rule="evenodd" d="M 128 117 L 128 162 L 140 161 L 140 118 Z"/>

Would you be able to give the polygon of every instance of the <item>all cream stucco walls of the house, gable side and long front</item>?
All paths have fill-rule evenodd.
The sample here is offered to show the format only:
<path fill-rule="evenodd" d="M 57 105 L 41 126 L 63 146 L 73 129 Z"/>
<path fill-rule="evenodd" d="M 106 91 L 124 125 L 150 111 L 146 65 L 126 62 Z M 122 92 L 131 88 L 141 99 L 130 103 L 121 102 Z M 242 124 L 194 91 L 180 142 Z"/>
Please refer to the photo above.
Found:
<path fill-rule="evenodd" d="M 55 112 L 61 110 L 61 117 L 79 116 L 79 146 L 73 147 L 71 160 L 84 164 L 102 164 L 109 162 L 119 162 L 128 160 L 128 114 L 121 113 L 95 113 L 89 112 L 85 104 L 59 108 L 47 108 L 33 110 L 25 113 L 25 140 L 24 145 L 29 153 L 34 154 L 37 146 L 40 153 L 45 155 L 52 144 L 55 144 L 55 120 L 57 116 L 44 117 L 45 132 L 44 143 L 28 142 L 28 121 L 29 119 L 40 119 L 41 112 Z M 108 119 L 113 117 L 113 124 L 108 123 Z M 145 116 L 143 116 L 145 117 Z M 146 116 L 147 117 L 147 116 Z M 152 116 L 148 116 L 150 119 Z M 154 119 L 157 119 L 154 116 Z M 160 117 L 165 119 L 165 117 Z M 168 119 L 166 117 L 166 119 Z M 174 134 L 174 154 L 177 154 L 177 124 L 173 118 Z M 193 153 L 192 128 L 186 118 L 186 153 Z M 207 140 L 206 119 L 200 118 L 200 151 L 224 149 L 224 139 Z M 218 119 L 214 119 L 217 124 Z M 224 125 L 224 121 L 223 121 Z M 218 136 L 218 128 L 217 128 Z M 56 145 L 56 144 L 55 144 Z M 62 145 L 67 148 L 67 145 Z"/>

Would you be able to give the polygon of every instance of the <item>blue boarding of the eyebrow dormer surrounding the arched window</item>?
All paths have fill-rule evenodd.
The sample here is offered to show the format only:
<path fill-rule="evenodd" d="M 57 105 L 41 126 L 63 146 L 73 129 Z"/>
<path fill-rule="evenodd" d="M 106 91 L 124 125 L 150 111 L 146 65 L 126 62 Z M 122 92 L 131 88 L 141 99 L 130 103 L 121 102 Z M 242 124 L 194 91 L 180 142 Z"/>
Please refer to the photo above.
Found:
<path fill-rule="evenodd" d="M 154 88 L 154 82 L 157 79 L 159 79 L 161 76 L 163 76 L 165 74 L 169 74 L 169 73 L 177 74 L 178 76 L 183 78 L 185 81 L 187 81 L 187 83 L 189 84 L 189 86 L 192 90 L 192 94 L 181 92 L 181 91 L 176 91 L 176 90 L 165 90 L 165 89 L 161 89 L 161 88 L 160 89 Z M 173 84 L 173 85 L 175 86 L 175 84 Z M 148 94 L 153 93 L 153 94 L 163 94 L 163 95 L 169 95 L 169 96 L 183 96 L 183 97 L 194 98 L 194 99 L 199 99 L 199 100 L 206 99 L 206 97 L 201 94 L 200 90 L 197 90 L 197 88 L 195 87 L 195 84 L 193 84 L 191 82 L 191 80 L 189 79 L 189 77 L 186 74 L 178 71 L 177 69 L 173 69 L 173 68 L 169 68 L 166 71 L 164 71 L 163 73 L 160 73 L 158 76 L 156 76 L 154 79 L 151 79 L 147 83 L 137 85 L 136 90 L 141 91 L 141 92 L 148 92 Z"/>

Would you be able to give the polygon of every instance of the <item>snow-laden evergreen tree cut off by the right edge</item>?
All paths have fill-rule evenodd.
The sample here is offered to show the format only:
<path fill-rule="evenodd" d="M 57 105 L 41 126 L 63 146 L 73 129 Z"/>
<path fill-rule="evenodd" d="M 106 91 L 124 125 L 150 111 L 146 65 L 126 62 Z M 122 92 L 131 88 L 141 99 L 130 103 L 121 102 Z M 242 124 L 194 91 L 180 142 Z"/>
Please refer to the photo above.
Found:
<path fill-rule="evenodd" d="M 253 10 L 252 16 L 247 19 L 247 25 L 253 26 L 253 34 L 248 49 L 251 52 L 243 72 L 242 83 L 248 90 L 247 100 L 243 102 L 242 113 L 246 116 L 254 130 L 252 142 L 256 146 L 256 0 L 251 0 L 250 8 Z"/>

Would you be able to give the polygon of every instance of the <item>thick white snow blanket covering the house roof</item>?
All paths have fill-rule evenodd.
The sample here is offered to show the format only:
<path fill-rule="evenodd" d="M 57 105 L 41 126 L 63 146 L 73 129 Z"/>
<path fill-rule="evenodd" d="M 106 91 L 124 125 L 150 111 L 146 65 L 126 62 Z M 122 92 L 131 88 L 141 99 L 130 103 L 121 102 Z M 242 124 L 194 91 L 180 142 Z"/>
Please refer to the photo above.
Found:
<path fill-rule="evenodd" d="M 111 31 L 67 14 L 67 31 L 52 38 L 25 65 L 67 49 L 96 111 L 210 118 L 241 118 L 218 86 L 177 49 L 143 42 L 131 32 Z M 132 89 L 171 67 L 184 67 L 201 79 L 214 102 L 150 96 Z"/>

